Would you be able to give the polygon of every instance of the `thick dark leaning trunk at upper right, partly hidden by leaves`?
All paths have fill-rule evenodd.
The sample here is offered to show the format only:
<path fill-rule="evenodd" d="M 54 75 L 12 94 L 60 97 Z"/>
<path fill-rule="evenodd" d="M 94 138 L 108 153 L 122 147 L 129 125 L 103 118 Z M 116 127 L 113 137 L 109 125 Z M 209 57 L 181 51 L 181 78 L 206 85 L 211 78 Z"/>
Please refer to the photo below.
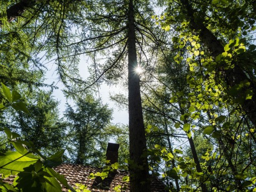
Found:
<path fill-rule="evenodd" d="M 190 22 L 190 29 L 196 31 L 201 41 L 210 50 L 212 56 L 215 58 L 222 52 L 225 52 L 221 42 L 211 33 L 209 29 L 203 25 L 203 21 L 199 21 L 198 19 L 194 18 L 194 13 L 196 11 L 191 7 L 189 1 L 181 0 L 181 3 L 187 15 L 187 19 Z M 243 69 L 239 67 L 237 63 L 234 63 L 234 66 L 235 67 L 233 69 L 228 70 L 219 67 L 219 70 L 223 71 L 223 77 L 226 77 L 223 79 L 223 81 L 226 81 L 228 86 L 232 87 L 244 80 L 251 82 L 247 75 L 244 73 Z M 250 100 L 244 100 L 242 109 L 245 111 L 251 122 L 256 126 L 256 89 L 253 85 L 253 82 L 251 82 L 250 86 L 246 87 L 245 89 L 253 90 L 253 96 Z M 237 97 L 243 96 L 245 89 L 237 93 Z"/>

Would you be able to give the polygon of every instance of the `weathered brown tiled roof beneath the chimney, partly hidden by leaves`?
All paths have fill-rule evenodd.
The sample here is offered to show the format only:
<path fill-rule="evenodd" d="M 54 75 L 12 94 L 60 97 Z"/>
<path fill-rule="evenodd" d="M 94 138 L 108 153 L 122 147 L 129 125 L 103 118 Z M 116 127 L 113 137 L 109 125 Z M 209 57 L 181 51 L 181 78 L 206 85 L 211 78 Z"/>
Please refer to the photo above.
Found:
<path fill-rule="evenodd" d="M 125 192 L 130 192 L 129 182 L 123 182 L 122 179 L 125 175 L 129 175 L 127 171 L 116 170 L 108 174 L 108 177 L 102 180 L 100 177 L 95 179 L 90 179 L 90 173 L 102 172 L 102 168 L 77 165 L 77 164 L 61 164 L 54 168 L 55 171 L 64 175 L 68 183 L 75 187 L 76 183 L 81 183 L 87 186 L 92 192 L 110 192 L 114 191 L 114 187 L 120 185 L 121 187 L 126 186 Z M 15 176 L 10 176 L 9 178 L 4 179 L 5 182 L 12 183 Z M 154 177 L 151 179 L 151 191 L 152 192 L 165 192 L 164 183 L 158 178 Z M 62 191 L 68 191 L 68 189 L 63 188 Z"/>

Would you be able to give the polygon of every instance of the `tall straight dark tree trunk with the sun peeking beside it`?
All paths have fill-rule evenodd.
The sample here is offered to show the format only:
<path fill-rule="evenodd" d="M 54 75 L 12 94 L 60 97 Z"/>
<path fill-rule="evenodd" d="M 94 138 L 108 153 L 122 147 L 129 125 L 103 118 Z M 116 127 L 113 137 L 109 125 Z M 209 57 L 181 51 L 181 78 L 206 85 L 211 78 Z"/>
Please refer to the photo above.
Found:
<path fill-rule="evenodd" d="M 129 91 L 129 139 L 130 139 L 130 185 L 131 192 L 150 191 L 146 136 L 142 116 L 140 78 L 135 45 L 133 1 L 129 4 L 128 23 L 128 91 Z"/>

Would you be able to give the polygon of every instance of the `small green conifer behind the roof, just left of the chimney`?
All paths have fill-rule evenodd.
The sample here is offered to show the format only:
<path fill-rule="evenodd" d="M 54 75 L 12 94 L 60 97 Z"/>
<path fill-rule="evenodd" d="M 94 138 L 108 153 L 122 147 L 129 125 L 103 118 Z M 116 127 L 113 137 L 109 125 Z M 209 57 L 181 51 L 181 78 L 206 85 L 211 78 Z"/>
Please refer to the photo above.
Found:
<path fill-rule="evenodd" d="M 105 132 L 112 111 L 92 95 L 78 98 L 75 102 L 74 107 L 67 104 L 64 114 L 67 119 L 65 140 L 68 162 L 102 166 L 106 161 L 109 139 Z"/>

